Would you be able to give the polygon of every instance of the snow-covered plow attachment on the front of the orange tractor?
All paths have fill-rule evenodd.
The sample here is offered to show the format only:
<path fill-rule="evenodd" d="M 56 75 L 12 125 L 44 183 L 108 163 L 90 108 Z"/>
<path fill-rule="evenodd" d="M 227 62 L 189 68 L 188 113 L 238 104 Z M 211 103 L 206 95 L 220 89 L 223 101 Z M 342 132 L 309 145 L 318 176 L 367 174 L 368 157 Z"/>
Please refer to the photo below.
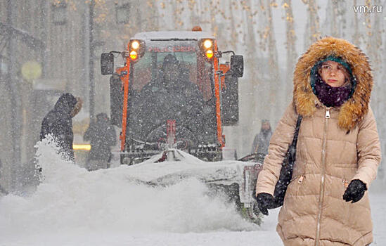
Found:
<path fill-rule="evenodd" d="M 223 195 L 245 219 L 256 224 L 261 221 L 252 197 L 260 164 L 237 160 L 204 162 L 182 150 L 170 149 L 128 168 L 131 181 L 149 186 L 171 186 L 198 179 L 207 185 L 208 195 Z"/>

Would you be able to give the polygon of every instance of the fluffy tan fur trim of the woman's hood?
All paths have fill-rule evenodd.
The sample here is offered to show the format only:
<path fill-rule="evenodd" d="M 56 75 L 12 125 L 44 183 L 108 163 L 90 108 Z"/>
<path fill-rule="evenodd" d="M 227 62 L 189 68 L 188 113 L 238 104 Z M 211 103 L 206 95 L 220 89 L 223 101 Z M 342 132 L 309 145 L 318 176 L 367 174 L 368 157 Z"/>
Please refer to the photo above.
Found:
<path fill-rule="evenodd" d="M 368 112 L 371 89 L 373 88 L 373 75 L 368 57 L 358 47 L 345 39 L 333 37 L 320 39 L 299 58 L 293 77 L 295 108 L 298 114 L 309 117 L 314 115 L 317 105 L 321 104 L 311 89 L 311 68 L 319 60 L 328 56 L 345 60 L 351 67 L 354 79 L 356 79 L 355 91 L 352 97 L 340 106 L 338 118 L 340 128 L 351 130 Z"/>

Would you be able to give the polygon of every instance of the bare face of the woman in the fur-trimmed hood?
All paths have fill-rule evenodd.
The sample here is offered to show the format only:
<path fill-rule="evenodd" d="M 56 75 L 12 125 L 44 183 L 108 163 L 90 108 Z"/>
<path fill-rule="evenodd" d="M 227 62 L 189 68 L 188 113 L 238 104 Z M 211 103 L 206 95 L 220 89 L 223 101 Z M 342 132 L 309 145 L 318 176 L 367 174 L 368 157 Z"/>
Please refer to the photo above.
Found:
<path fill-rule="evenodd" d="M 347 72 L 340 63 L 328 60 L 321 65 L 320 75 L 329 86 L 340 87 L 345 84 Z"/>

